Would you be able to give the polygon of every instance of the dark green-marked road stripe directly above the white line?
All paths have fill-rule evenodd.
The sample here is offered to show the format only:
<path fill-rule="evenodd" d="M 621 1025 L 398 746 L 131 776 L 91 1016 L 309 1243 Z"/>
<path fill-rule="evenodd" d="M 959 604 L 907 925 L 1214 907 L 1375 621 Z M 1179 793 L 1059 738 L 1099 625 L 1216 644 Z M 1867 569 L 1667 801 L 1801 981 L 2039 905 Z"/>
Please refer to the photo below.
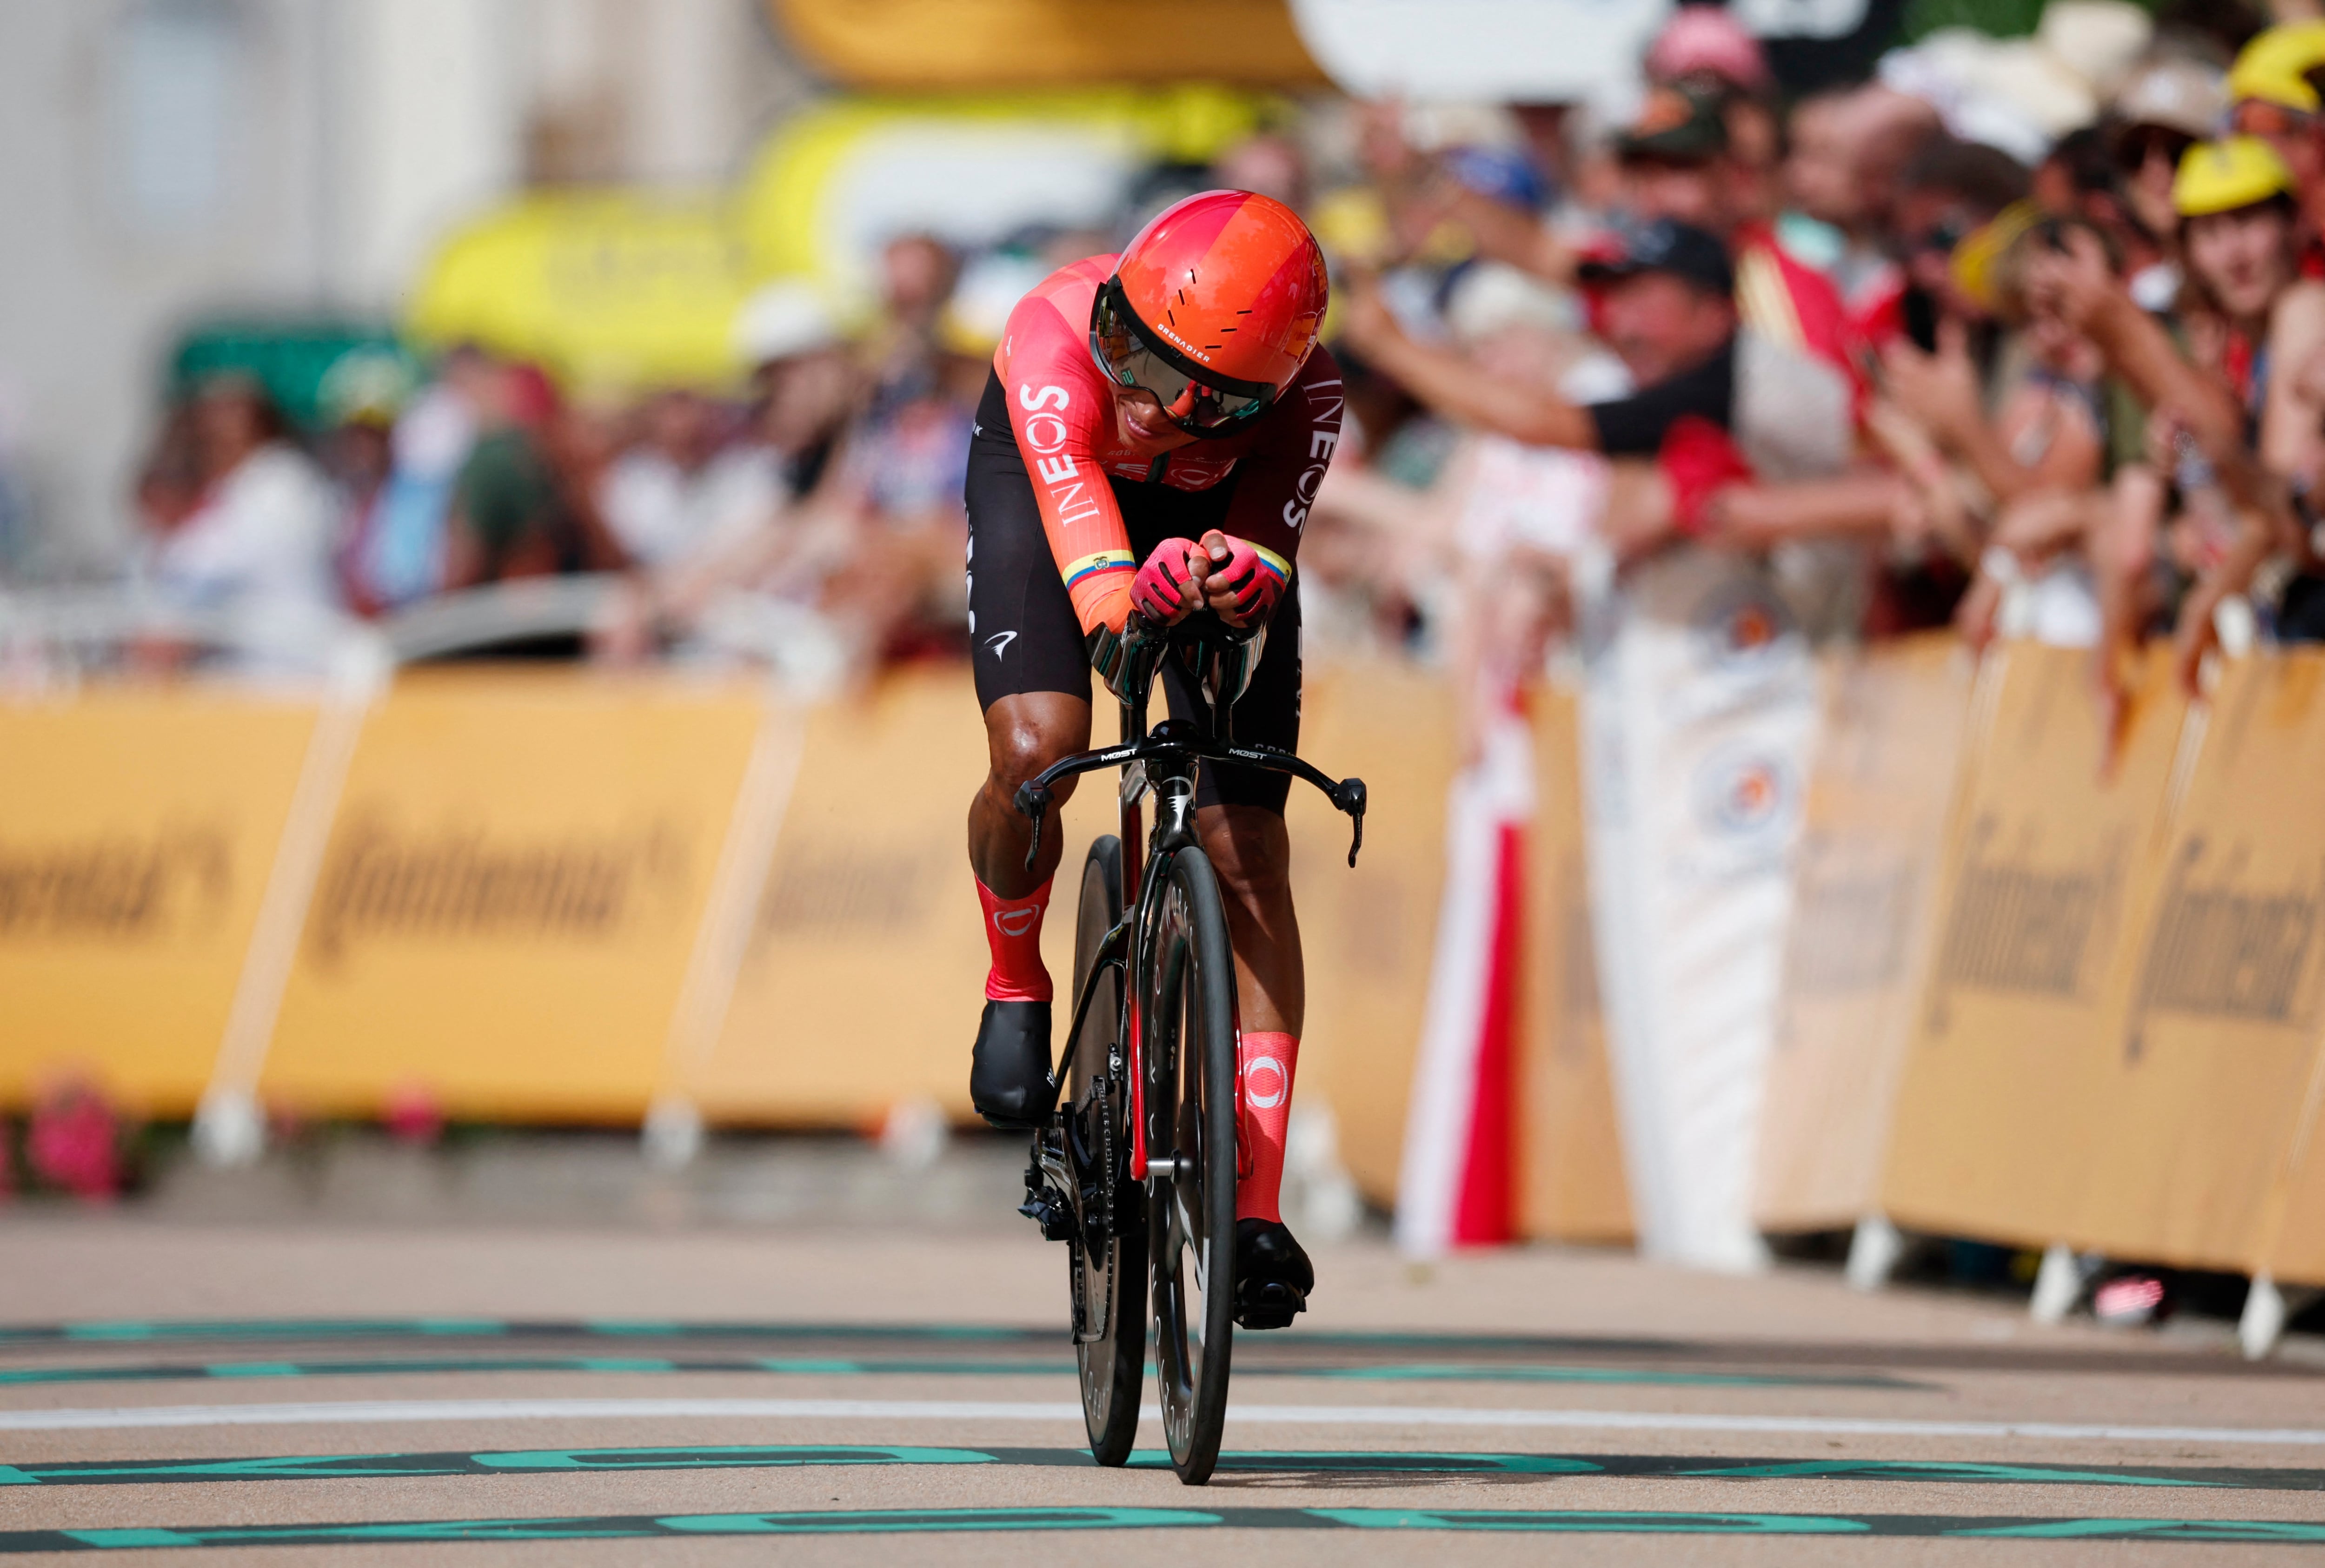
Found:
<path fill-rule="evenodd" d="M 423 1373 L 781 1373 L 816 1378 L 1072 1378 L 1067 1359 L 865 1361 L 846 1357 L 437 1357 L 365 1361 L 146 1361 L 133 1366 L 14 1366 L 0 1387 L 63 1382 L 198 1382 L 235 1378 L 384 1378 Z M 1595 1382 L 1679 1389 L 1927 1389 L 1881 1375 L 1686 1373 L 1630 1366 L 1502 1366 L 1493 1361 L 1423 1361 L 1390 1366 L 1258 1366 L 1246 1378 L 1330 1378 L 1348 1382 Z"/>

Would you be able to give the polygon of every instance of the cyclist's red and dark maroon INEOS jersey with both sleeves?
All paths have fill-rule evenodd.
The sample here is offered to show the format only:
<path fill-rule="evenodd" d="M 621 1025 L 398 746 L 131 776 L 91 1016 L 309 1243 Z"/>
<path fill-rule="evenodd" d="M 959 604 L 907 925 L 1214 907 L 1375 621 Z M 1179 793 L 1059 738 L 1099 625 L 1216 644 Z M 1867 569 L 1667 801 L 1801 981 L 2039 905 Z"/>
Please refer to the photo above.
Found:
<path fill-rule="evenodd" d="M 1090 302 L 1114 276 L 1090 256 L 1018 300 L 993 351 L 1009 427 L 1042 506 L 1042 532 L 1083 632 L 1121 630 L 1137 560 L 1109 479 L 1209 490 L 1239 474 L 1221 532 L 1246 539 L 1267 571 L 1290 578 L 1300 530 L 1339 444 L 1339 365 L 1321 346 L 1272 409 L 1249 427 L 1179 446 L 1132 451 L 1114 423 L 1114 381 L 1090 358 Z"/>

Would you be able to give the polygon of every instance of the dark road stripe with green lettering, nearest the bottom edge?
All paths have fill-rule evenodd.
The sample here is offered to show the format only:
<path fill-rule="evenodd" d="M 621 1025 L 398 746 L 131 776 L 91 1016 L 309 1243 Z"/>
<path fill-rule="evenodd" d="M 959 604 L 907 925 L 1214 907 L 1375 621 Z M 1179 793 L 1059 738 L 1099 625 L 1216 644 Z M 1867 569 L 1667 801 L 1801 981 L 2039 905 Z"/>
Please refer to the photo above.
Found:
<path fill-rule="evenodd" d="M 2325 1542 L 2290 1519 L 2041 1519 L 1951 1515 L 1718 1515 L 1502 1508 L 881 1508 L 595 1519 L 400 1519 L 112 1531 L 0 1531 L 0 1554 L 446 1540 L 700 1540 L 704 1535 L 895 1535 L 960 1531 L 1493 1531 L 1581 1535 L 1920 1535 L 1974 1540 Z"/>

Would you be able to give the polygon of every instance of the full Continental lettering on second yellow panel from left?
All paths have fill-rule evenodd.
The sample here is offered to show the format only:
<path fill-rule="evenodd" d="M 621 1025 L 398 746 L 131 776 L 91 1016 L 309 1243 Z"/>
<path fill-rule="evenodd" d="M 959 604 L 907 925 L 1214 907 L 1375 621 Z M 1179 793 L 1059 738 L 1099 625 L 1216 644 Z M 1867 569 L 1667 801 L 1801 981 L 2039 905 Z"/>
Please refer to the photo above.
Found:
<path fill-rule="evenodd" d="M 528 839 L 356 815 L 326 857 L 307 950 L 330 966 L 370 941 L 607 943 L 667 929 L 688 890 L 686 839 L 665 822 Z"/>

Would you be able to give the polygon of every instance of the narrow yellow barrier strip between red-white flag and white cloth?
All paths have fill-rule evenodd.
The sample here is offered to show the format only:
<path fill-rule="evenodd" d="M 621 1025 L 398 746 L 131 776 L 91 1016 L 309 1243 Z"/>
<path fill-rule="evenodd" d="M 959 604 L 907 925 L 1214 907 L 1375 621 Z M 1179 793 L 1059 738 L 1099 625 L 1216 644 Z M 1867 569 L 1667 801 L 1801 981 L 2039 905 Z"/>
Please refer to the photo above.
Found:
<path fill-rule="evenodd" d="M 1525 857 L 1525 964 L 1518 969 L 1518 1231 L 1553 1240 L 1630 1240 L 1630 1189 L 1600 1015 L 1583 864 L 1581 702 L 1539 685 L 1535 820 Z"/>

